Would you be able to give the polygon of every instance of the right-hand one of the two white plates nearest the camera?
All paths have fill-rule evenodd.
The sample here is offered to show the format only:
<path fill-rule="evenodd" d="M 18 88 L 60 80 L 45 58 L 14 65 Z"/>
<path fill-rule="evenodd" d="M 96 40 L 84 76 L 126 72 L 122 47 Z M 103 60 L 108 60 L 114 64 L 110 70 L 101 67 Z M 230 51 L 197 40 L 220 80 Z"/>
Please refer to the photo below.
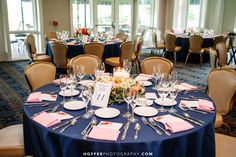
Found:
<path fill-rule="evenodd" d="M 136 107 L 134 113 L 142 117 L 155 116 L 158 110 L 154 107 Z"/>

